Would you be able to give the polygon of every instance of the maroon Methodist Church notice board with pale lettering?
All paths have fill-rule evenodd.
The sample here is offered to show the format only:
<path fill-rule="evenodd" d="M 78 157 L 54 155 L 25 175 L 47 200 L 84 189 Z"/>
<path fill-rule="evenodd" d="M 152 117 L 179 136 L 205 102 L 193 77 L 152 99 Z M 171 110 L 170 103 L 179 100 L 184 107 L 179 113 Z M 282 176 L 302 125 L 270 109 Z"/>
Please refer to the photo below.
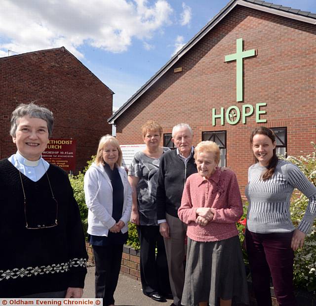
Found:
<path fill-rule="evenodd" d="M 67 138 L 49 139 L 42 158 L 65 171 L 75 171 L 76 168 L 76 140 Z"/>

